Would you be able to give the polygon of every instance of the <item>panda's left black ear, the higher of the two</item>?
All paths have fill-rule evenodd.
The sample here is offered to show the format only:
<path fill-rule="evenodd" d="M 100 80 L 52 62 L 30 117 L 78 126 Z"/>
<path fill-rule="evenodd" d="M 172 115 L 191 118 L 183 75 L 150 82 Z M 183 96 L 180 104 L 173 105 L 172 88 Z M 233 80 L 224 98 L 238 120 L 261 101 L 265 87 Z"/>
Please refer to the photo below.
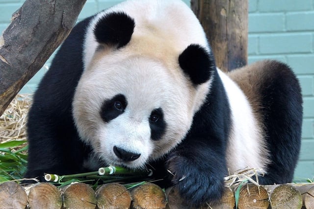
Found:
<path fill-rule="evenodd" d="M 134 20 L 126 13 L 111 12 L 98 20 L 94 35 L 98 43 L 120 48 L 130 42 L 134 27 Z"/>

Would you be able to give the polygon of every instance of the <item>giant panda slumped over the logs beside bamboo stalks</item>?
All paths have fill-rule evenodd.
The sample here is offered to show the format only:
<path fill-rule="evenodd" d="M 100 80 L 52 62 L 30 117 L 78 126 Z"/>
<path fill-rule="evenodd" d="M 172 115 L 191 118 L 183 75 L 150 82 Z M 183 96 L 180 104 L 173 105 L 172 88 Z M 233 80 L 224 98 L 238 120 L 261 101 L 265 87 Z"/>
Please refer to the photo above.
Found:
<path fill-rule="evenodd" d="M 302 125 L 294 73 L 262 61 L 224 73 L 181 0 L 128 0 L 78 23 L 29 110 L 26 178 L 105 165 L 152 168 L 191 205 L 224 177 L 292 180 Z M 158 182 L 157 182 L 158 183 Z"/>

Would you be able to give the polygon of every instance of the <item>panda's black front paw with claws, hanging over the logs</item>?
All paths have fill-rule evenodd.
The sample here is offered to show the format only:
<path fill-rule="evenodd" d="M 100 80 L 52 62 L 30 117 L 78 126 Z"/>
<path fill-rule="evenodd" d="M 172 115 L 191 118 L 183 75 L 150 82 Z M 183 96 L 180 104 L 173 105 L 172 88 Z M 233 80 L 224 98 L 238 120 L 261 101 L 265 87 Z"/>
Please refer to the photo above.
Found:
<path fill-rule="evenodd" d="M 181 157 L 171 159 L 168 168 L 173 176 L 172 182 L 186 203 L 199 207 L 219 200 L 224 190 L 223 178 L 212 169 L 199 169 L 180 159 Z"/>

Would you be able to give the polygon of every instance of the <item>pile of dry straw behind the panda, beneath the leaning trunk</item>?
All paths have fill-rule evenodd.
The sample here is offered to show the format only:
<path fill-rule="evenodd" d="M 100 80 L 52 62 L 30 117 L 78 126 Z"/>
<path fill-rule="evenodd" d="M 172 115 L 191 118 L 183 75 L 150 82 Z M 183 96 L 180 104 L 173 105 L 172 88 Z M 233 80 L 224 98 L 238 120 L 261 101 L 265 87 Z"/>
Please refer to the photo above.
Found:
<path fill-rule="evenodd" d="M 26 140 L 26 119 L 31 104 L 30 94 L 18 94 L 0 116 L 0 143 Z"/>

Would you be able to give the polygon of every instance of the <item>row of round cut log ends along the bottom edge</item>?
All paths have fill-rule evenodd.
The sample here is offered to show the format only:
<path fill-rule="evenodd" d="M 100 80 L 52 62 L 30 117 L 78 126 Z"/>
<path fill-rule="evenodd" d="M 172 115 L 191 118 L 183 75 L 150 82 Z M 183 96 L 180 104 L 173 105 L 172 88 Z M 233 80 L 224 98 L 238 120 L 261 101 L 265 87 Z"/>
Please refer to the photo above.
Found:
<path fill-rule="evenodd" d="M 242 185 L 238 209 L 314 209 L 314 184 L 256 186 Z M 99 186 L 96 191 L 83 183 L 57 188 L 50 183 L 30 187 L 16 182 L 0 184 L 0 209 L 190 209 L 174 187 L 166 191 L 155 184 L 132 189 L 118 183 Z M 219 202 L 199 209 L 234 209 L 234 192 L 226 187 Z"/>

